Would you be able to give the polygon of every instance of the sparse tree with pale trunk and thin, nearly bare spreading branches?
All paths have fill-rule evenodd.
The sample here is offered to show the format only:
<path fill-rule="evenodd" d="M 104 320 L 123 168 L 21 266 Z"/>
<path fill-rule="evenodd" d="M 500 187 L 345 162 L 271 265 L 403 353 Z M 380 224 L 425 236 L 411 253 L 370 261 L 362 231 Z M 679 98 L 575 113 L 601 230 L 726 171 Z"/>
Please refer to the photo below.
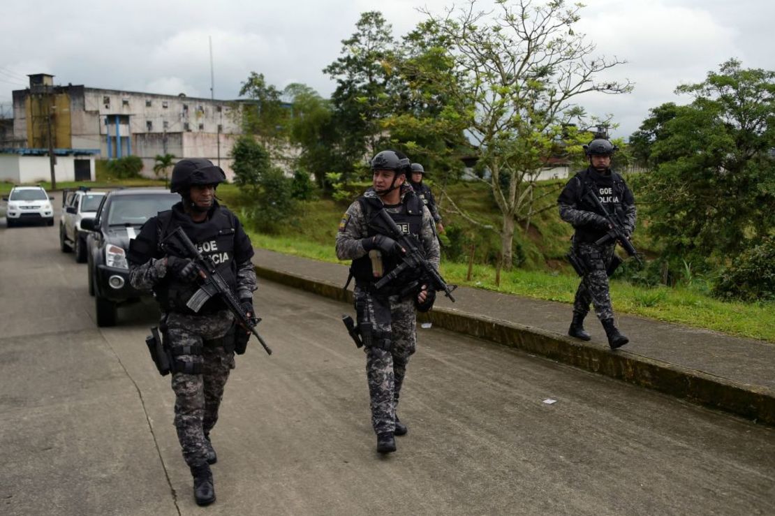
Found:
<path fill-rule="evenodd" d="M 581 5 L 496 4 L 493 12 L 477 11 L 472 0 L 445 17 L 425 14 L 451 43 L 449 55 L 460 71 L 452 93 L 474 103 L 460 116 L 490 174 L 486 181 L 502 214 L 503 264 L 511 267 L 515 222 L 533 214 L 536 180 L 546 160 L 561 150 L 563 123 L 584 114 L 576 98 L 593 91 L 624 93 L 632 86 L 598 81 L 600 72 L 622 61 L 594 55 L 594 44 L 575 32 Z"/>

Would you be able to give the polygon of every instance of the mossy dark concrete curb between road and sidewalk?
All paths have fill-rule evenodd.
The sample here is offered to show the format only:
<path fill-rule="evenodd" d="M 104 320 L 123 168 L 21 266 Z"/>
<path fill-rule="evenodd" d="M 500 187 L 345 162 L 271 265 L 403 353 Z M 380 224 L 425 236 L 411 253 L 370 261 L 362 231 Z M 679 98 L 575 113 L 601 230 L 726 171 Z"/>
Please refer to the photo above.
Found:
<path fill-rule="evenodd" d="M 260 277 L 279 284 L 336 301 L 353 302 L 352 291 L 345 291 L 341 285 L 267 267 L 257 266 L 256 272 Z M 775 392 L 765 387 L 741 384 L 621 349 L 611 352 L 605 346 L 570 339 L 543 329 L 449 308 L 434 308 L 427 314 L 419 314 L 418 320 L 658 390 L 705 407 L 731 412 L 766 425 L 775 425 Z"/>

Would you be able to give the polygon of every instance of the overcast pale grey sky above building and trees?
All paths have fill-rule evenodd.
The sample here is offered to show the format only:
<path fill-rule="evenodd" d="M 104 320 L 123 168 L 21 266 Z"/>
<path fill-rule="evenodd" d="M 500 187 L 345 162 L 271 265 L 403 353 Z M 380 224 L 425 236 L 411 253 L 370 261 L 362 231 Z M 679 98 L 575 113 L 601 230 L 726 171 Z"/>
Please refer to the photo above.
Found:
<path fill-rule="evenodd" d="M 486 7 L 491 0 L 482 0 Z M 743 67 L 775 70 L 773 0 L 587 0 L 578 23 L 598 52 L 626 60 L 611 77 L 633 81 L 629 95 L 587 95 L 579 104 L 613 115 L 628 137 L 649 109 L 678 84 L 704 80 L 736 57 Z M 395 36 L 422 19 L 416 8 L 443 12 L 453 2 L 426 0 L 134 0 L 5 2 L 0 31 L 0 105 L 27 74 L 53 74 L 55 84 L 210 97 L 212 36 L 215 98 L 236 98 L 250 71 L 284 88 L 301 82 L 328 96 L 322 68 L 339 57 L 360 12 L 380 10 Z M 460 5 L 460 2 L 457 2 Z"/>

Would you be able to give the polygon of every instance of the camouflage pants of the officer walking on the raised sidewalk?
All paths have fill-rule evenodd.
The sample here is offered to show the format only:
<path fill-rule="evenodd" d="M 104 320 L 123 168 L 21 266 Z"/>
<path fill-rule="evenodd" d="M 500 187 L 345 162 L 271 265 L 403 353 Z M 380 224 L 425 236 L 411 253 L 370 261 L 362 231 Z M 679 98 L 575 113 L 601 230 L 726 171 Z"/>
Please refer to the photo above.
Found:
<path fill-rule="evenodd" d="M 614 317 L 611 295 L 608 294 L 608 274 L 605 270 L 614 256 L 614 246 L 596 246 L 594 243 L 577 243 L 576 253 L 584 262 L 587 273 L 581 280 L 574 299 L 574 314 L 587 315 L 589 304 L 594 306 L 598 319 Z"/>

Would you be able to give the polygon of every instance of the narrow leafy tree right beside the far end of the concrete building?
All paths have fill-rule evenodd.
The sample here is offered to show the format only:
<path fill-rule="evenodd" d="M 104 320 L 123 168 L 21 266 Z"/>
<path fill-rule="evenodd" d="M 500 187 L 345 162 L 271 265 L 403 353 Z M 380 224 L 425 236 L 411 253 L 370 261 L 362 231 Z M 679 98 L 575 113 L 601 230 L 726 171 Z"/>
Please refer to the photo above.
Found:
<path fill-rule="evenodd" d="M 254 71 L 239 89 L 239 96 L 252 100 L 242 106 L 243 130 L 256 135 L 266 149 L 284 142 L 289 112 L 283 106 L 281 95 L 281 91 L 267 84 L 263 74 Z"/>

